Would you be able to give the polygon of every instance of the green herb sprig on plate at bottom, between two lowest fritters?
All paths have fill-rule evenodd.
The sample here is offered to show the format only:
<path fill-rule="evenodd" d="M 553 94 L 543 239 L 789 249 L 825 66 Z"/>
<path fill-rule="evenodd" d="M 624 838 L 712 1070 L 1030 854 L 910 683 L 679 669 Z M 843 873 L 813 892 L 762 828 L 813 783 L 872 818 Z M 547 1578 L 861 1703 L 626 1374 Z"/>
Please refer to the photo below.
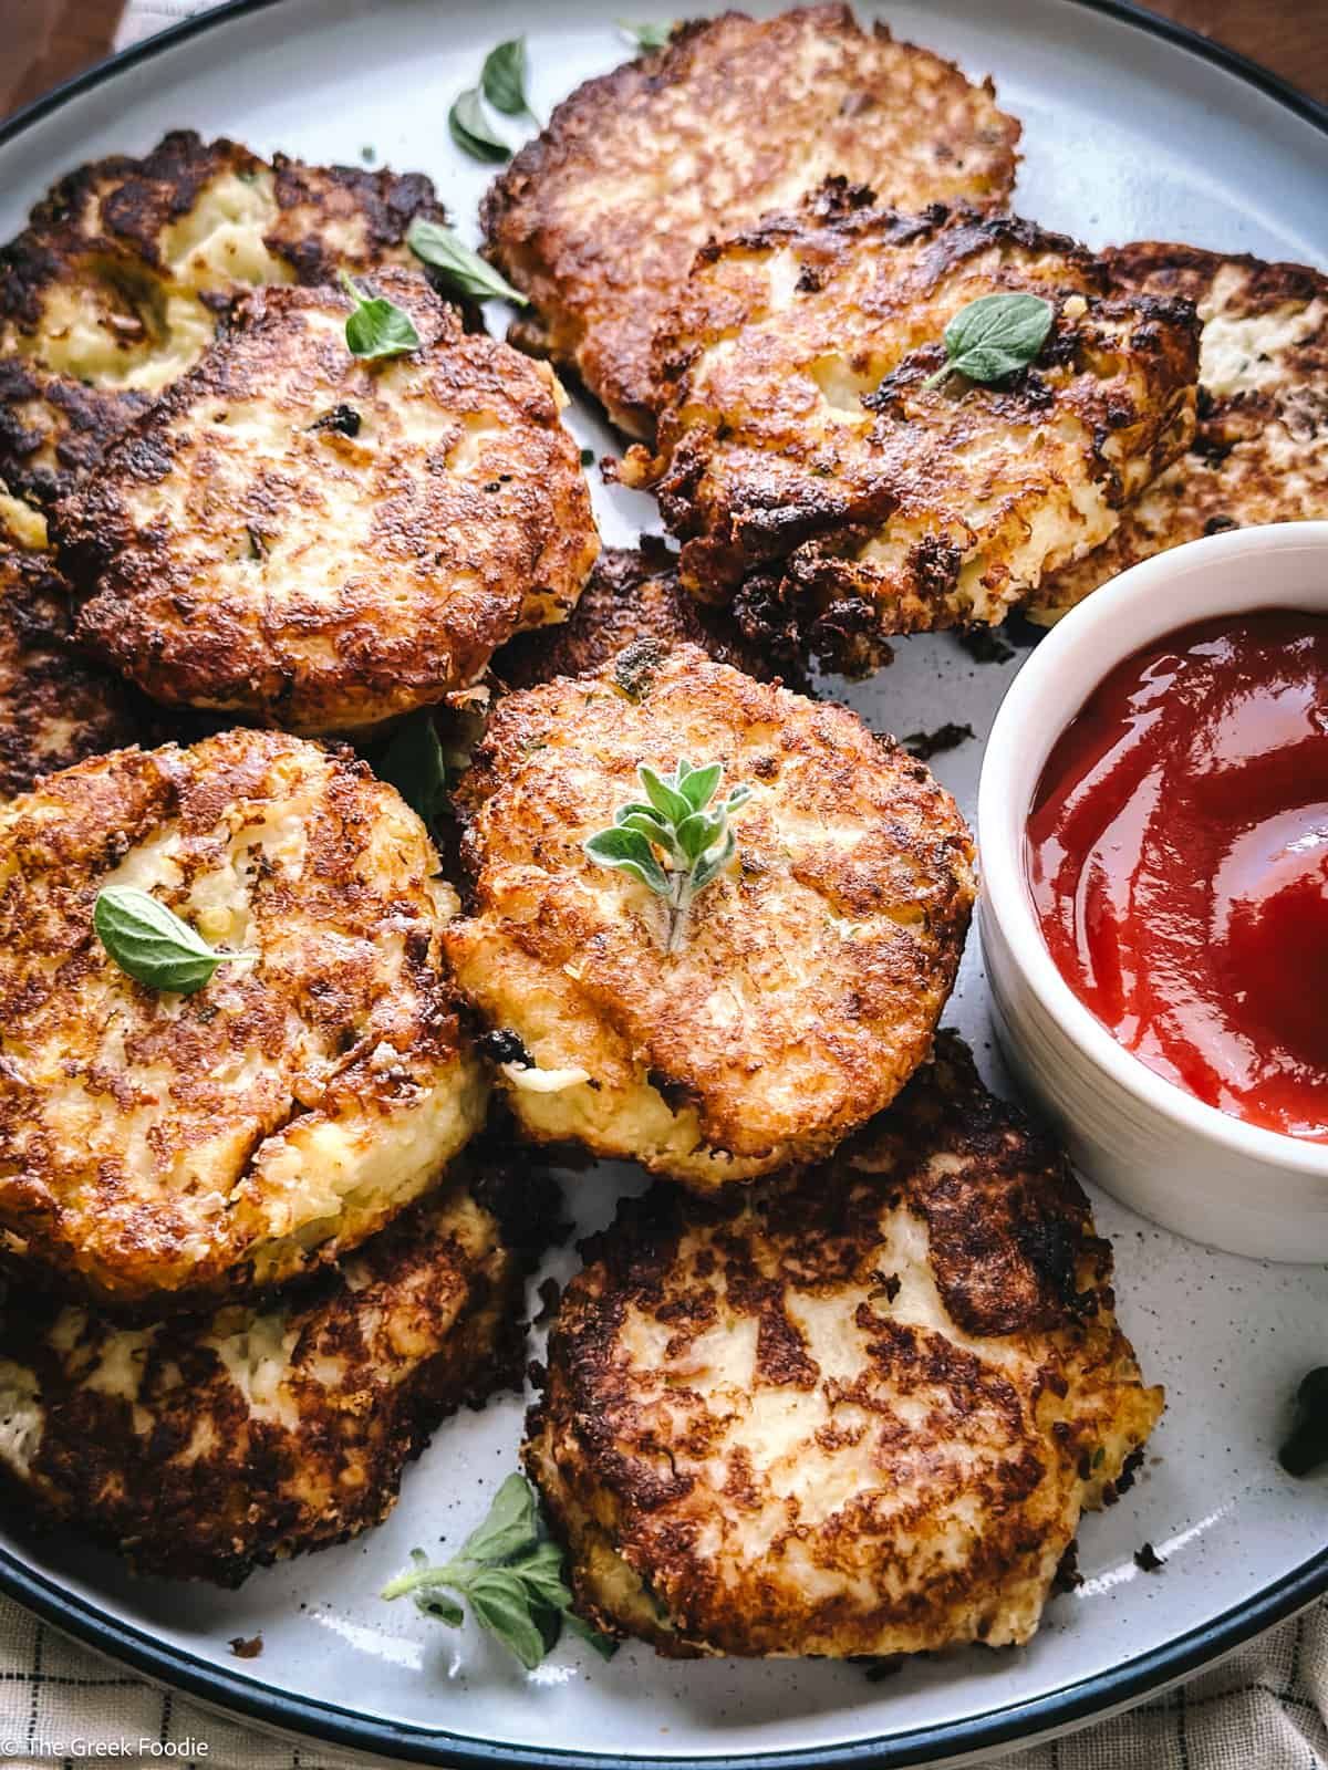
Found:
<path fill-rule="evenodd" d="M 471 1531 L 455 1561 L 432 1566 L 421 1549 L 411 1551 L 411 1561 L 414 1566 L 390 1581 L 381 1597 L 409 1593 L 425 1616 L 450 1628 L 466 1614 L 457 1602 L 464 1598 L 475 1621 L 515 1653 L 526 1671 L 535 1671 L 554 1650 L 563 1623 L 606 1658 L 618 1648 L 572 1612 L 563 1551 L 540 1531 L 535 1492 L 521 1474 L 503 1481 L 489 1517 Z"/>

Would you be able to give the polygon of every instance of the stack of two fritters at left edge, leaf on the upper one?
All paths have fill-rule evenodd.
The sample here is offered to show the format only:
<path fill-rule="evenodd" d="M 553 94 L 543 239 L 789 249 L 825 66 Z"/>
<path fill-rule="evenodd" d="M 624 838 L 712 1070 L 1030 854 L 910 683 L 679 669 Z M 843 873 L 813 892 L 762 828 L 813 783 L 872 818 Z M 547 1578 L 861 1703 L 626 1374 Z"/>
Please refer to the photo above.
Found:
<path fill-rule="evenodd" d="M 251 958 L 135 982 L 106 887 Z M 395 789 L 280 733 L 0 809 L 0 1467 L 39 1513 L 235 1579 L 374 1522 L 517 1377 L 521 1260 L 453 1166 L 487 1097 L 453 908 Z"/>

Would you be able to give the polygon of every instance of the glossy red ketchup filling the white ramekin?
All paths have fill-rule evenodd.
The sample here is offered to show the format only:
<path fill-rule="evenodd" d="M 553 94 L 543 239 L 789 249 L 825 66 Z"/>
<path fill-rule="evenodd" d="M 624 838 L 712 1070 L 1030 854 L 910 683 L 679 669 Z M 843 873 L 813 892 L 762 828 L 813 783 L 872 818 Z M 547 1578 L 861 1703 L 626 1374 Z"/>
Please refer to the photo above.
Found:
<path fill-rule="evenodd" d="M 1126 1051 L 1328 1142 L 1328 618 L 1197 621 L 1119 664 L 1046 761 L 1027 869 Z"/>

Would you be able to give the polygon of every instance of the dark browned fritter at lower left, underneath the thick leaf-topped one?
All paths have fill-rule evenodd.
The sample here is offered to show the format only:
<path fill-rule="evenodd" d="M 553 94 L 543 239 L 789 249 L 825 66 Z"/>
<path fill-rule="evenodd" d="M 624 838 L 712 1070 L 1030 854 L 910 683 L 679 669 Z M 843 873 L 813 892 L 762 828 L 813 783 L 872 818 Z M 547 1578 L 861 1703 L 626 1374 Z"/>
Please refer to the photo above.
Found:
<path fill-rule="evenodd" d="M 285 1299 L 131 1328 L 11 1290 L 0 1476 L 138 1572 L 237 1586 L 379 1524 L 446 1414 L 519 1388 L 521 1308 L 464 1184 Z"/>

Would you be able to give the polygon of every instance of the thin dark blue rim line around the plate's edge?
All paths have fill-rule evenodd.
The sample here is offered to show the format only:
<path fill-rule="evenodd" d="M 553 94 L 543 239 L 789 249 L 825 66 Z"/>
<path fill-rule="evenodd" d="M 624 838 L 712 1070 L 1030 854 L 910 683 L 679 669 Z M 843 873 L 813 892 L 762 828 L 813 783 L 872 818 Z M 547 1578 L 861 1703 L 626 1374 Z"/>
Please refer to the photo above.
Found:
<path fill-rule="evenodd" d="M 156 35 L 120 50 L 119 55 L 74 74 L 73 80 L 66 80 L 51 92 L 25 104 L 0 124 L 0 147 L 16 140 L 71 99 L 104 85 L 126 69 L 174 50 L 205 30 L 214 30 L 228 19 L 276 4 L 280 0 L 225 0 L 207 12 L 181 19 Z M 1061 4 L 1103 12 L 1153 37 L 1162 37 L 1165 42 L 1234 74 L 1245 85 L 1255 87 L 1284 110 L 1328 136 L 1328 104 L 1298 92 L 1266 67 L 1236 50 L 1211 42 L 1186 25 L 1160 18 L 1137 5 L 1135 0 L 1061 0 Z M 1062 1685 L 1046 1696 L 1009 1703 L 967 1720 L 914 1728 L 908 1733 L 853 1740 L 843 1745 L 724 1754 L 699 1761 L 696 1758 L 625 1758 L 613 1752 L 513 1747 L 434 1728 L 375 1720 L 335 1703 L 292 1696 L 260 1683 L 257 1678 L 216 1666 L 184 1648 L 165 1646 L 135 1623 L 112 1618 L 96 1604 L 71 1597 L 58 1581 L 28 1566 L 4 1545 L 0 1545 L 0 1591 L 97 1653 L 131 1666 L 143 1676 L 172 1685 L 202 1703 L 211 1703 L 232 1715 L 269 1728 L 303 1733 L 344 1745 L 349 1751 L 375 1752 L 381 1758 L 443 1765 L 448 1770 L 478 1770 L 478 1766 L 490 1770 L 494 1765 L 529 1766 L 529 1770 L 643 1770 L 643 1766 L 648 1770 L 698 1770 L 698 1765 L 701 1770 L 765 1770 L 765 1766 L 770 1770 L 838 1770 L 843 1765 L 853 1765 L 859 1770 L 868 1770 L 868 1766 L 869 1770 L 905 1770 L 908 1765 L 940 1765 L 972 1752 L 997 1751 L 1015 1742 L 1029 1743 L 1046 1733 L 1069 1729 L 1094 1717 L 1128 1708 L 1151 1692 L 1190 1676 L 1323 1597 L 1328 1591 L 1328 1547 L 1266 1586 L 1250 1602 L 1232 1605 L 1222 1616 L 1201 1623 L 1165 1646 L 1140 1653 L 1112 1671 Z"/>

